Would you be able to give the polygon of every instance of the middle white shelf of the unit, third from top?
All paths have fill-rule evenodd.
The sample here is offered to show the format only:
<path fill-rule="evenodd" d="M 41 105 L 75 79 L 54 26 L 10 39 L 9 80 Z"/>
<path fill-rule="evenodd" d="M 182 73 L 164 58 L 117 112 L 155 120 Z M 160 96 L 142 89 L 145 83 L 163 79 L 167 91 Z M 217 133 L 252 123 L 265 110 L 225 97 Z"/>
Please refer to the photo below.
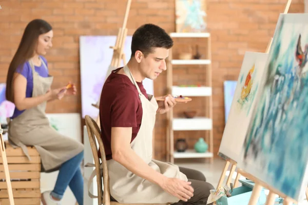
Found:
<path fill-rule="evenodd" d="M 211 87 L 180 87 L 172 86 L 172 95 L 191 96 L 211 96 Z"/>

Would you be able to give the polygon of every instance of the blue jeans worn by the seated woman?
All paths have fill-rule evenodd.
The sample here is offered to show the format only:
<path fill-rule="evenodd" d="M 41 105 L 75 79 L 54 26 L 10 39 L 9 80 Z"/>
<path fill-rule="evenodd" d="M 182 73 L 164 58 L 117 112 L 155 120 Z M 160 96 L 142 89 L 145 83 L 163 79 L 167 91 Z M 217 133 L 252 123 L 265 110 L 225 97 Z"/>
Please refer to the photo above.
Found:
<path fill-rule="evenodd" d="M 79 205 L 83 205 L 83 176 L 80 164 L 84 158 L 84 151 L 72 157 L 61 165 L 54 189 L 51 195 L 54 198 L 62 199 L 64 192 L 69 186 Z"/>

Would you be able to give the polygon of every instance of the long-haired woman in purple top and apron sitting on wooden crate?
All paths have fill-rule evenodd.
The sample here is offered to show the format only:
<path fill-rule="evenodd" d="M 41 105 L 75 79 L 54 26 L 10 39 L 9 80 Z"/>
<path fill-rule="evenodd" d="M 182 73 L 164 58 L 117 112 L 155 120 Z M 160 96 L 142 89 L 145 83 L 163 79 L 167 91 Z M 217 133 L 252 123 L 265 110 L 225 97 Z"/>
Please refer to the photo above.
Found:
<path fill-rule="evenodd" d="M 45 20 L 32 20 L 11 61 L 6 98 L 16 108 L 8 124 L 9 141 L 21 147 L 29 159 L 26 146 L 34 146 L 41 156 L 42 172 L 59 170 L 54 189 L 42 194 L 44 205 L 60 204 L 68 186 L 82 205 L 83 144 L 56 132 L 45 113 L 47 101 L 76 93 L 74 85 L 69 89 L 50 89 L 53 77 L 43 55 L 52 47 L 52 37 L 52 27 Z"/>

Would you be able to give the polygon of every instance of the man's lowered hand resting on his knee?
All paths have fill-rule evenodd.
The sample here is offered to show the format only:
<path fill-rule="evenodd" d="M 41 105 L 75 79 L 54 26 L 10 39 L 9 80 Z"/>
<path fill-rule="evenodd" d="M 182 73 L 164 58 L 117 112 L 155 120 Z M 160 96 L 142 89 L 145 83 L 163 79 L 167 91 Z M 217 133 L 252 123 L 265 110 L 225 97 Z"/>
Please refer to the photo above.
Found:
<path fill-rule="evenodd" d="M 184 181 L 177 178 L 166 178 L 166 180 L 163 181 L 161 188 L 180 200 L 187 201 L 194 196 L 194 189 L 190 184 L 190 181 Z"/>

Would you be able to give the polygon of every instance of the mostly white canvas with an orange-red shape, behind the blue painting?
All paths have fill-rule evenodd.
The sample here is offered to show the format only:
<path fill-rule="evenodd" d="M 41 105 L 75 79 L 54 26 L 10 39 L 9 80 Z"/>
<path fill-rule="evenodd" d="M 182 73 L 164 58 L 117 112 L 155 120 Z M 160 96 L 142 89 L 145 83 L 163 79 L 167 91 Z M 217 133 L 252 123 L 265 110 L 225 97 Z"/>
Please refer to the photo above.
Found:
<path fill-rule="evenodd" d="M 258 52 L 246 52 L 244 55 L 219 148 L 219 154 L 222 157 L 235 161 L 241 159 L 241 147 L 252 118 L 252 107 L 259 92 L 267 57 L 267 53 Z"/>

